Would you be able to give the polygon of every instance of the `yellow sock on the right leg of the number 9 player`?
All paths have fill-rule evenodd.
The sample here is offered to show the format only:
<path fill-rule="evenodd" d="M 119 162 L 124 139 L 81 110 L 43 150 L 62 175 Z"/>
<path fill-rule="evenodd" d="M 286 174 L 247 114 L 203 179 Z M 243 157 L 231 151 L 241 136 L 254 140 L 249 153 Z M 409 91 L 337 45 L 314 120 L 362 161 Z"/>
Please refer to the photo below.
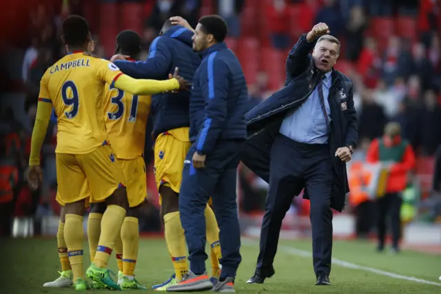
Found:
<path fill-rule="evenodd" d="M 95 266 L 101 269 L 107 267 L 107 261 L 115 244 L 116 235 L 121 230 L 125 218 L 125 209 L 118 205 L 109 205 L 101 220 L 101 235 L 99 236 L 98 246 L 94 258 Z"/>

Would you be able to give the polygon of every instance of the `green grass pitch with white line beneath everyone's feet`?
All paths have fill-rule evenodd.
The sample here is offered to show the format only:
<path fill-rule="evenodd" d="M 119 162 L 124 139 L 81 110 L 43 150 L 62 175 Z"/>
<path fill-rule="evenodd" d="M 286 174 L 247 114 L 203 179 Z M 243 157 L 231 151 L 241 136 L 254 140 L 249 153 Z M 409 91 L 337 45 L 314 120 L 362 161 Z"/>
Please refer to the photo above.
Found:
<path fill-rule="evenodd" d="M 90 264 L 85 243 L 85 269 Z M 258 241 L 243 240 L 240 264 L 236 278 L 239 293 L 418 293 L 440 294 L 441 256 L 403 251 L 398 255 L 376 253 L 371 243 L 334 242 L 336 259 L 332 266 L 331 286 L 315 286 L 311 241 L 282 241 L 274 266 L 276 275 L 265 284 L 245 284 L 252 275 L 258 255 Z M 60 270 L 55 239 L 3 239 L 0 250 L 6 264 L 1 269 L 1 294 L 74 293 L 71 288 L 43 288 L 43 283 L 58 277 Z M 110 259 L 115 272 L 116 260 Z M 210 262 L 207 260 L 210 271 Z M 136 264 L 136 278 L 149 288 L 172 274 L 172 264 L 165 241 L 159 238 L 142 239 Z M 432 283 L 432 284 L 430 284 Z M 90 291 L 88 291 L 90 292 Z M 104 293 L 107 291 L 97 291 Z M 147 292 L 153 292 L 151 289 Z"/>

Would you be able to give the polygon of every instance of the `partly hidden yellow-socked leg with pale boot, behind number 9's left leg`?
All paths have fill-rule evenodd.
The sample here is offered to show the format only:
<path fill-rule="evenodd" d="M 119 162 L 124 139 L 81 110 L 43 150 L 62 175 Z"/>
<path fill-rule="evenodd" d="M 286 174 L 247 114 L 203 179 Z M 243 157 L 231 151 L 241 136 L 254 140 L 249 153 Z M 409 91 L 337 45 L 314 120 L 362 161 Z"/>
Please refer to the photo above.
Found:
<path fill-rule="evenodd" d="M 70 267 L 69 256 L 68 256 L 68 246 L 66 246 L 64 240 L 64 223 L 65 223 L 65 209 L 61 206 L 60 211 L 60 222 L 57 231 L 57 245 L 58 245 L 58 255 L 61 263 L 60 276 L 57 277 L 53 282 L 47 282 L 43 284 L 43 287 L 70 287 L 72 286 L 72 267 Z"/>

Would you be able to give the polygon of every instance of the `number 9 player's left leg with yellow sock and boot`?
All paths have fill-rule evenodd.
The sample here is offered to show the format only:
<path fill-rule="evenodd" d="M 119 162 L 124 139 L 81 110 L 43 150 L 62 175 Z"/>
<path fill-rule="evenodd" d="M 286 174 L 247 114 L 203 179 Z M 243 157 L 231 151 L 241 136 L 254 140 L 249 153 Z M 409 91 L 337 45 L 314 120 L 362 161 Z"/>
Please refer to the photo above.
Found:
<path fill-rule="evenodd" d="M 83 216 L 85 201 L 65 204 L 64 239 L 68 247 L 70 266 L 72 266 L 73 285 L 76 291 L 87 290 L 83 272 Z"/>

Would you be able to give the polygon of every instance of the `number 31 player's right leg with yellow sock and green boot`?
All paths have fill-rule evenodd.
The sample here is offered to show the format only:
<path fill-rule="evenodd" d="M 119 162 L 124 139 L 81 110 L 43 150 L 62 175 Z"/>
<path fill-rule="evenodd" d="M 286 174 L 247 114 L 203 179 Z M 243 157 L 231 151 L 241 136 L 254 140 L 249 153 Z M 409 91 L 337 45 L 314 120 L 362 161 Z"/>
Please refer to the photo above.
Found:
<path fill-rule="evenodd" d="M 121 227 L 121 240 L 123 240 L 123 275 L 118 280 L 118 284 L 123 290 L 139 289 L 147 290 L 145 286 L 139 284 L 134 277 L 136 260 L 139 250 L 139 216 L 142 204 L 130 207 L 127 210 L 123 226 Z"/>

